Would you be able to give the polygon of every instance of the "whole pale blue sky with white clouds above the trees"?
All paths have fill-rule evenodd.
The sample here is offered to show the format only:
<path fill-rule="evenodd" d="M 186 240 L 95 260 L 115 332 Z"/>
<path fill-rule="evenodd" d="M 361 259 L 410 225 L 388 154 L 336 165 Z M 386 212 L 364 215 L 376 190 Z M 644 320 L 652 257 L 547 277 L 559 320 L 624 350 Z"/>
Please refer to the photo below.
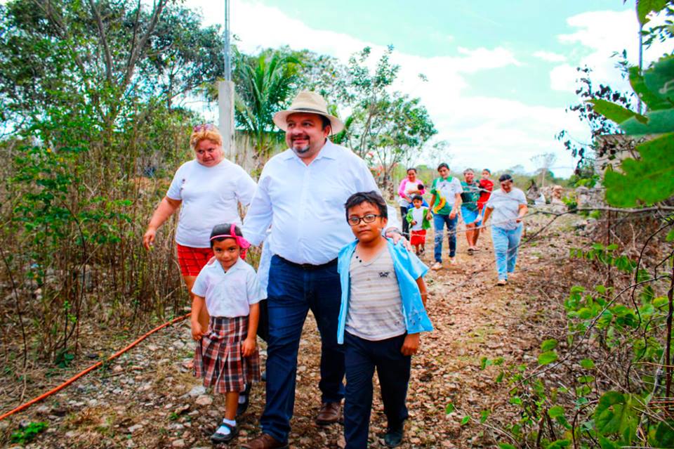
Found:
<path fill-rule="evenodd" d="M 187 5 L 203 8 L 206 23 L 223 22 L 219 3 Z M 574 160 L 554 135 L 568 129 L 588 139 L 564 112 L 577 101 L 575 67 L 589 65 L 596 82 L 627 89 L 611 55 L 627 49 L 635 57 L 637 48 L 633 1 L 621 0 L 232 0 L 231 22 L 247 52 L 289 45 L 346 60 L 364 46 L 376 55 L 392 44 L 402 67 L 395 89 L 421 98 L 435 141 L 449 142 L 442 157 L 457 170 L 534 170 L 531 157 L 555 152 L 555 171 L 570 174 Z M 422 152 L 418 162 L 437 156 Z"/>

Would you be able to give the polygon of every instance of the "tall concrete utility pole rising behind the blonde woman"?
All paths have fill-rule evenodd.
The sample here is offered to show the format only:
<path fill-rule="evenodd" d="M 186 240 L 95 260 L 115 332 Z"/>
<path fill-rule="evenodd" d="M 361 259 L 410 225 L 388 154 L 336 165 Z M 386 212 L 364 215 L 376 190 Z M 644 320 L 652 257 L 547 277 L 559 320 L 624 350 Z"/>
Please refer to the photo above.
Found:
<path fill-rule="evenodd" d="M 225 0 L 225 80 L 218 81 L 218 128 L 223 135 L 225 156 L 235 161 L 234 150 L 234 83 L 232 82 L 232 59 L 230 56 L 230 1 Z"/>

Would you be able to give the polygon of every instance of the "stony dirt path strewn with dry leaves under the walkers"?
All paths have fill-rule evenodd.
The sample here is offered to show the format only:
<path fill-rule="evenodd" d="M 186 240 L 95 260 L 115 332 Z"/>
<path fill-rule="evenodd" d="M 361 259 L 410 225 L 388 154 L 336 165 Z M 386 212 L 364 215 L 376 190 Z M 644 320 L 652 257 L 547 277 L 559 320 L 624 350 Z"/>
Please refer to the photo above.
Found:
<path fill-rule="evenodd" d="M 501 356 L 518 363 L 535 360 L 538 342 L 555 327 L 551 317 L 555 308 L 561 307 L 560 298 L 572 282 L 568 263 L 564 262 L 568 254 L 565 235 L 574 233 L 577 220 L 560 219 L 546 230 L 545 237 L 524 245 L 518 271 L 507 287 L 494 286 L 489 235 L 481 236 L 481 250 L 474 256 L 466 254 L 465 237 L 458 235 L 458 265 L 430 272 L 426 278 L 435 332 L 422 337 L 421 353 L 412 360 L 410 419 L 402 448 L 494 447 L 498 424 L 508 422 L 514 411 L 506 405 L 505 387 L 494 381 L 496 370 L 480 370 L 480 359 Z M 548 221 L 533 217 L 527 223 L 529 235 Z M 427 247 L 423 260 L 430 265 L 432 235 Z M 550 307 L 553 313 L 548 311 Z M 121 339 L 118 343 L 122 346 Z M 88 375 L 43 403 L 0 422 L 0 443 L 11 447 L 9 435 L 20 422 L 42 421 L 48 429 L 27 447 L 211 447 L 209 436 L 223 415 L 224 403 L 222 398 L 206 394 L 184 366 L 192 356 L 192 345 L 187 322 L 150 337 L 106 370 Z M 300 343 L 292 448 L 343 447 L 340 425 L 321 428 L 313 423 L 319 408 L 318 348 L 315 322 L 309 318 Z M 103 355 L 113 349 L 96 350 Z M 26 398 L 58 384 L 60 377 L 33 382 Z M 257 385 L 251 408 L 239 422 L 239 443 L 258 434 L 263 395 L 263 385 Z M 371 447 L 383 448 L 378 434 L 385 429 L 385 417 L 377 396 L 370 427 Z M 4 410 L 18 405 L 15 395 L 0 393 L 0 398 Z M 450 402 L 456 410 L 448 415 Z M 477 418 L 482 410 L 491 411 L 486 426 L 477 419 L 460 424 L 464 416 Z"/>

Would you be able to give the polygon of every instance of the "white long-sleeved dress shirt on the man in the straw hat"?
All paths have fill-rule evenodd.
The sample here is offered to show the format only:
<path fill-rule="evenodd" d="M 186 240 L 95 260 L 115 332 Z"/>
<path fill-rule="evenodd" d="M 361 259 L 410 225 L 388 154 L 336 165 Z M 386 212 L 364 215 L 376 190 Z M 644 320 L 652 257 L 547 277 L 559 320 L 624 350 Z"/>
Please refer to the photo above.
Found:
<path fill-rule="evenodd" d="M 244 237 L 259 245 L 271 225 L 265 245 L 272 254 L 294 263 L 327 263 L 355 238 L 344 203 L 371 190 L 379 191 L 371 172 L 348 148 L 328 140 L 309 165 L 285 150 L 265 164 L 244 218 Z M 388 227 L 398 226 L 395 209 L 389 207 L 388 214 Z"/>

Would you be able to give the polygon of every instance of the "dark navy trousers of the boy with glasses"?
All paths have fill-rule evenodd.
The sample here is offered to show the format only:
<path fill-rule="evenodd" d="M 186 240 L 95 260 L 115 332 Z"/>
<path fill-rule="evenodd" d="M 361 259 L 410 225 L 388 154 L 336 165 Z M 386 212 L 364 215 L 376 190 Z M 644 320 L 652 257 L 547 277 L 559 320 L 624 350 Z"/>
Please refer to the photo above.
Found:
<path fill-rule="evenodd" d="M 346 391 L 344 436 L 346 449 L 367 447 L 372 409 L 372 377 L 377 369 L 388 427 L 398 429 L 407 419 L 407 384 L 411 356 L 400 352 L 407 334 L 369 341 L 344 332 Z"/>

